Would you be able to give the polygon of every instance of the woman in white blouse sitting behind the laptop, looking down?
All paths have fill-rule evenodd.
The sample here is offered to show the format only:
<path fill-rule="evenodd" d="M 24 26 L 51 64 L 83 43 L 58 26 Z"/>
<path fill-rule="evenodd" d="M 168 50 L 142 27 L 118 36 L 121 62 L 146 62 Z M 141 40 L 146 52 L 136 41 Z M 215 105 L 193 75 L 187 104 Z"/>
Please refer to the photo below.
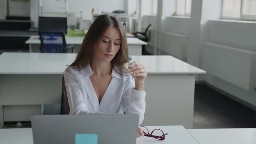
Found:
<path fill-rule="evenodd" d="M 138 114 L 144 119 L 143 65 L 131 62 L 121 23 L 101 15 L 92 23 L 75 61 L 64 72 L 71 115 L 118 113 Z M 144 136 L 138 127 L 138 137 Z"/>

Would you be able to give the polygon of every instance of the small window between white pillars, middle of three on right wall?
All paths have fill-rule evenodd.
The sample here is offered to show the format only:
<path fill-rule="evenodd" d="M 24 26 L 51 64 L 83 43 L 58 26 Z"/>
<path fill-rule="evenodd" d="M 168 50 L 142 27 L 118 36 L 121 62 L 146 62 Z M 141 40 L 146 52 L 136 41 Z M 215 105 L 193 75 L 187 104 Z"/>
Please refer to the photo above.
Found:
<path fill-rule="evenodd" d="M 176 0 L 176 12 L 178 16 L 190 16 L 192 0 Z"/>

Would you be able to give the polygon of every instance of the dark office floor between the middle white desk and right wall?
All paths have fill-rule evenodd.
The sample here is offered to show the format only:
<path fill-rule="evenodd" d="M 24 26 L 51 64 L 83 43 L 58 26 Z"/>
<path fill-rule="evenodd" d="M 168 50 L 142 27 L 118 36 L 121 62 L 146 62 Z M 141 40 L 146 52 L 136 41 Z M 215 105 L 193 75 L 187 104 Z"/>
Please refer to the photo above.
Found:
<path fill-rule="evenodd" d="M 194 128 L 256 128 L 256 111 L 207 85 L 197 84 Z"/>

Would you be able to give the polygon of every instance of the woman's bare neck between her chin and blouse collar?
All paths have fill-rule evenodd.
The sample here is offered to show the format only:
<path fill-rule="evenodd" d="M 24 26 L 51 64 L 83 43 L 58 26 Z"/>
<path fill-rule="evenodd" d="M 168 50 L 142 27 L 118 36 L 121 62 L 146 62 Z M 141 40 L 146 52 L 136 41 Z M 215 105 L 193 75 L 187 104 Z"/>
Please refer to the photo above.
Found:
<path fill-rule="evenodd" d="M 104 76 L 104 75 L 111 75 L 112 67 L 111 62 L 96 62 L 92 61 L 90 63 L 93 75 L 97 76 Z"/>

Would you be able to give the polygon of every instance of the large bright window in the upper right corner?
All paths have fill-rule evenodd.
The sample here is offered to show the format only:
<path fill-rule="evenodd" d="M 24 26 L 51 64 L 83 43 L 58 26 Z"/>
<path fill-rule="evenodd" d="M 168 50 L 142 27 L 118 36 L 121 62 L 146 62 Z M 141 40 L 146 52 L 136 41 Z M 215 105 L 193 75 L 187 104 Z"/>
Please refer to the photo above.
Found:
<path fill-rule="evenodd" d="M 223 0 L 222 19 L 256 20 L 256 0 Z"/>

